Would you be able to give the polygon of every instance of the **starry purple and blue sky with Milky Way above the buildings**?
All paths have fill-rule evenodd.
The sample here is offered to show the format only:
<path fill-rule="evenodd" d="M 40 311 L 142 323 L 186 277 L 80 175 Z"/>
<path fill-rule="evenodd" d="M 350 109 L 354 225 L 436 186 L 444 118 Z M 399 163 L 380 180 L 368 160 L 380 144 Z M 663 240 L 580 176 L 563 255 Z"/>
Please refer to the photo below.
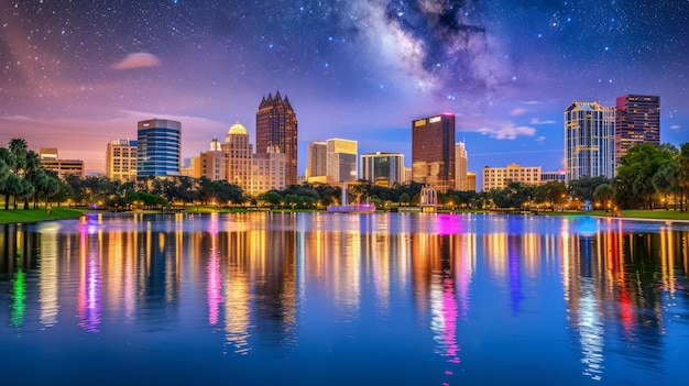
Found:
<path fill-rule="evenodd" d="M 210 1 L 0 4 L 0 142 L 105 170 L 138 121 L 182 122 L 197 156 L 236 121 L 256 143 L 262 96 L 288 95 L 309 142 L 411 159 L 408 122 L 452 112 L 468 169 L 562 167 L 562 111 L 661 98 L 660 142 L 689 128 L 689 2 Z M 129 135 L 128 135 L 129 133 Z M 77 140 L 78 139 L 78 140 Z M 406 165 L 411 166 L 411 165 Z"/>

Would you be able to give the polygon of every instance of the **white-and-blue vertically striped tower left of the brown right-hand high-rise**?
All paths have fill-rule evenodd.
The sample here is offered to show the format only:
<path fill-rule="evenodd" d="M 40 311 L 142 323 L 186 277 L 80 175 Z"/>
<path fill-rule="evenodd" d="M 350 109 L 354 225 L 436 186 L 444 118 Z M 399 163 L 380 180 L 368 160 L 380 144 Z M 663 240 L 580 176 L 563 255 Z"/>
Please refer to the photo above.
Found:
<path fill-rule="evenodd" d="M 615 176 L 615 109 L 572 102 L 565 109 L 565 175 Z"/>

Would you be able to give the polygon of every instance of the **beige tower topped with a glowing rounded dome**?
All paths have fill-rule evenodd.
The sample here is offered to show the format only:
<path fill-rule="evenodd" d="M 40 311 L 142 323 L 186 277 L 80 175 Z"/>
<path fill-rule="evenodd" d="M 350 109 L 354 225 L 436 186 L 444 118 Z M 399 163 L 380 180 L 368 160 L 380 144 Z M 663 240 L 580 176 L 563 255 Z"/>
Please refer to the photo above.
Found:
<path fill-rule="evenodd" d="M 253 145 L 249 143 L 249 134 L 241 123 L 237 122 L 228 130 L 222 144 L 222 154 L 225 179 L 247 190 L 251 181 Z"/>

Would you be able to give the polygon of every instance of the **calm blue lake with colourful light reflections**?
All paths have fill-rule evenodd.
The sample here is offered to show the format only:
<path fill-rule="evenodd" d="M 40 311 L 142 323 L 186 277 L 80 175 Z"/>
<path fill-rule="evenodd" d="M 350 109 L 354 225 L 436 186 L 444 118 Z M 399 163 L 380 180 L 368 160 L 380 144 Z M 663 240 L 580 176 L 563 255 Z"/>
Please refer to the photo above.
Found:
<path fill-rule="evenodd" d="M 682 384 L 688 243 L 529 216 L 0 225 L 0 384 Z"/>

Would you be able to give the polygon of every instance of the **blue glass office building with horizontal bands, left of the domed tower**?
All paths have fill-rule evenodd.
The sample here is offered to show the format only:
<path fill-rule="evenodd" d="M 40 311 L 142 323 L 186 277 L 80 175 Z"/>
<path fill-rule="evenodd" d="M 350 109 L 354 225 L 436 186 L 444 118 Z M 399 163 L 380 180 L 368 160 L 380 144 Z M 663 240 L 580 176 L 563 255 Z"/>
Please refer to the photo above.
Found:
<path fill-rule="evenodd" d="M 182 123 L 165 119 L 140 121 L 136 134 L 136 177 L 181 175 Z"/>

